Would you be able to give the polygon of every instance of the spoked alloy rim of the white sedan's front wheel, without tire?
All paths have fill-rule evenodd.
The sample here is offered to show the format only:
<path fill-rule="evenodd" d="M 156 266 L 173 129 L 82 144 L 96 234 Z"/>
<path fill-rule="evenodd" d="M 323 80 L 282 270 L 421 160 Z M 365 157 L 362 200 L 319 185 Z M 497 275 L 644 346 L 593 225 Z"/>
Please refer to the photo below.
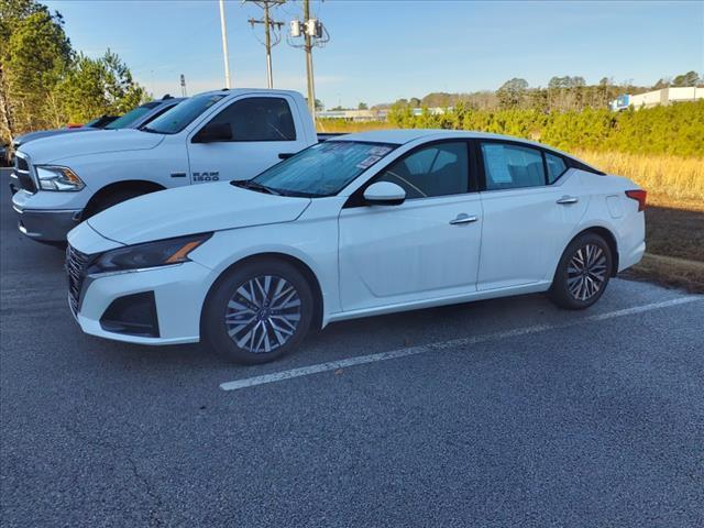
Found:
<path fill-rule="evenodd" d="M 228 301 L 224 324 L 238 346 L 255 354 L 283 346 L 300 321 L 300 297 L 285 278 L 261 275 L 240 285 Z"/>

